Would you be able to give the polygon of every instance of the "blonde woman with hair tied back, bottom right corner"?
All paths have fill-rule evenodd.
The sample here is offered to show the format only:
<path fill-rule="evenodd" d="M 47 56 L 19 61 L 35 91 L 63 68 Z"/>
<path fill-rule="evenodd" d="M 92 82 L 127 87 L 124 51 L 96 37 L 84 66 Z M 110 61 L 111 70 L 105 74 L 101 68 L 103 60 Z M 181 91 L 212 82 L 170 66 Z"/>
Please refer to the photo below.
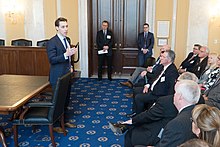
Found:
<path fill-rule="evenodd" d="M 220 147 L 220 110 L 206 104 L 192 110 L 192 131 L 200 139 Z"/>

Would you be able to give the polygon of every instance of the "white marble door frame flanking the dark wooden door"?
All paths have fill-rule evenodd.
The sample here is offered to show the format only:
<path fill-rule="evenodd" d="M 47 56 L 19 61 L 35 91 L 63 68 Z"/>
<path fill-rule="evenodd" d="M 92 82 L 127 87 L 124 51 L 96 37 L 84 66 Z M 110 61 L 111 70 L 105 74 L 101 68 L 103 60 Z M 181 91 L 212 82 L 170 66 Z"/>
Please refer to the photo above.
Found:
<path fill-rule="evenodd" d="M 149 23 L 151 32 L 154 32 L 155 26 L 155 0 L 146 0 L 146 21 Z M 79 42 L 80 42 L 80 70 L 81 77 L 90 77 L 92 73 L 92 58 L 91 58 L 91 49 L 89 47 L 92 44 L 89 44 L 92 39 L 92 28 L 89 22 L 91 20 L 91 11 L 90 9 L 91 1 L 90 0 L 78 0 L 78 18 L 79 18 Z"/>

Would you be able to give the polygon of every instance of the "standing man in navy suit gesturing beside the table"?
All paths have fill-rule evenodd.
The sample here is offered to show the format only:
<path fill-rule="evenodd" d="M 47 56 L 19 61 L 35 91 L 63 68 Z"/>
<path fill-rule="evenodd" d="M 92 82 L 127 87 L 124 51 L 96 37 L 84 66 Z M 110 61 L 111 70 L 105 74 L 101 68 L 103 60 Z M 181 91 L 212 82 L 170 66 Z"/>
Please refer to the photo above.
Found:
<path fill-rule="evenodd" d="M 47 55 L 50 62 L 50 76 L 49 81 L 52 86 L 53 91 L 59 77 L 67 74 L 68 72 L 73 72 L 71 66 L 71 56 L 77 51 L 77 48 L 70 48 L 70 42 L 67 39 L 68 33 L 68 23 L 67 19 L 59 17 L 55 21 L 55 28 L 57 34 L 52 37 L 47 43 Z M 69 85 L 69 90 L 65 103 L 65 110 L 69 104 L 71 85 Z M 65 116 L 65 115 L 64 115 Z M 66 123 L 67 127 L 76 127 L 73 124 Z"/>

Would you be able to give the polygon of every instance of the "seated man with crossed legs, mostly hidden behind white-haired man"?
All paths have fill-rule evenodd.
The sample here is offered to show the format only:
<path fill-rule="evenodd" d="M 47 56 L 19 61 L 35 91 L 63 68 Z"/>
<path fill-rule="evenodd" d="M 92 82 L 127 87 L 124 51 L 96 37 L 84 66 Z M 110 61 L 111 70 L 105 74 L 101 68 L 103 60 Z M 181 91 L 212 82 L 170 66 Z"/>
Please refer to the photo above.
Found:
<path fill-rule="evenodd" d="M 177 81 L 193 80 L 198 81 L 195 74 L 185 72 L 178 77 Z M 121 124 L 111 124 L 110 128 L 115 133 L 122 133 L 128 129 L 125 135 L 125 146 L 135 145 L 155 145 L 159 140 L 157 138 L 160 130 L 176 117 L 178 111 L 173 104 L 173 95 L 158 98 L 152 107 L 132 119 L 122 122 Z M 126 124 L 129 124 L 126 125 Z"/>

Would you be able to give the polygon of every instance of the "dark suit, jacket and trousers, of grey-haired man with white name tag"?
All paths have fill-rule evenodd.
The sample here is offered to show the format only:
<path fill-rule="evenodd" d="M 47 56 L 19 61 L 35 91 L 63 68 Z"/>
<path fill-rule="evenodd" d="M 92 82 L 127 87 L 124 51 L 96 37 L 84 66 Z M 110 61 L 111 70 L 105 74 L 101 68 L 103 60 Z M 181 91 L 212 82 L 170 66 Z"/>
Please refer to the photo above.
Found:
<path fill-rule="evenodd" d="M 176 66 L 171 63 L 155 84 L 153 91 L 143 93 L 142 87 L 134 88 L 135 98 L 133 99 L 133 112 L 139 114 L 144 111 L 145 104 L 153 103 L 161 96 L 174 94 L 174 85 L 178 76 L 179 74 Z M 149 87 L 149 90 L 150 88 L 151 87 Z"/>

